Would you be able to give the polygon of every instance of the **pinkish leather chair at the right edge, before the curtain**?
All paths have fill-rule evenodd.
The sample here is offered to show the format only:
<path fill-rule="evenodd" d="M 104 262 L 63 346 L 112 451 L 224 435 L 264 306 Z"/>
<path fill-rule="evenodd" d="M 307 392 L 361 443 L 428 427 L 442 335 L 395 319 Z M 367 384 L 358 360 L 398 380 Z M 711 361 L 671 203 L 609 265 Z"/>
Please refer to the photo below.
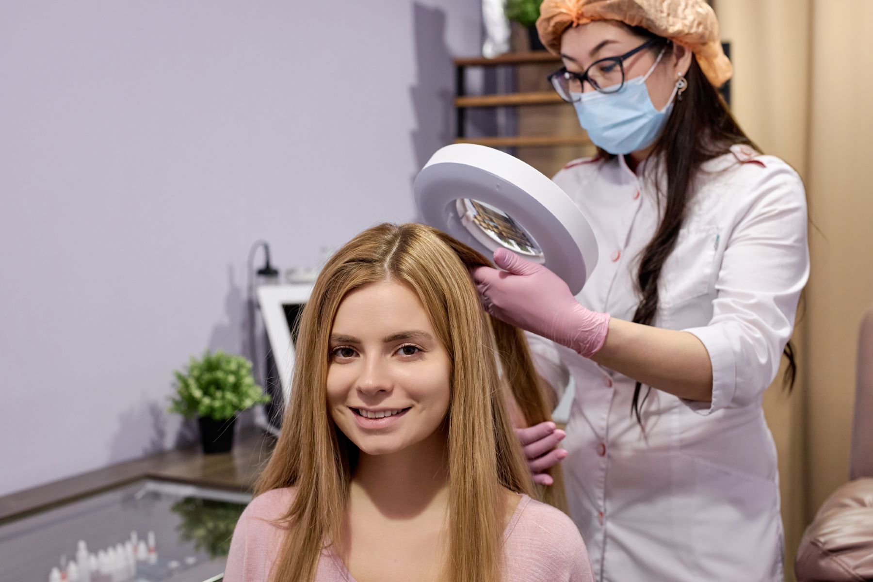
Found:
<path fill-rule="evenodd" d="M 858 339 L 849 479 L 803 534 L 794 562 L 798 582 L 873 580 L 873 308 Z"/>

